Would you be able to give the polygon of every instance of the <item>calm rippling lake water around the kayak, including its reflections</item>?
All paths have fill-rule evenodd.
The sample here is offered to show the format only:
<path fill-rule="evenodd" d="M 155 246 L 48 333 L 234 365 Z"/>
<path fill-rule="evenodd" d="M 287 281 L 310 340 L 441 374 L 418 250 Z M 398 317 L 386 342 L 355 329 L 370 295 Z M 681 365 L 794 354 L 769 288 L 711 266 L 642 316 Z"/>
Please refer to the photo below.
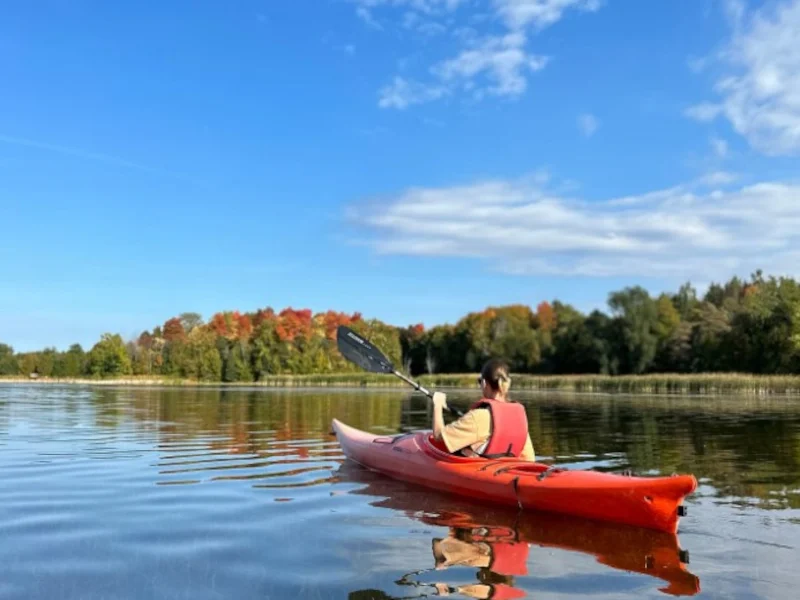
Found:
<path fill-rule="evenodd" d="M 404 391 L 0 385 L 0 598 L 798 597 L 800 401 L 515 397 L 540 460 L 694 473 L 678 535 L 345 462 L 333 417 L 429 427 Z"/>

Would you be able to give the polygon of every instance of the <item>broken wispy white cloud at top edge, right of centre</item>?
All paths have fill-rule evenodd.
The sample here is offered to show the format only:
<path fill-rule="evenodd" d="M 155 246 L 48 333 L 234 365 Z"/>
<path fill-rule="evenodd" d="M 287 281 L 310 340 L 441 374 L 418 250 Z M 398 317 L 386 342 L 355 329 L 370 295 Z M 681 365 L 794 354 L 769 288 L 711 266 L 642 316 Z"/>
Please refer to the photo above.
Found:
<path fill-rule="evenodd" d="M 372 12 L 399 11 L 397 23 L 426 36 L 450 32 L 447 39 L 460 46 L 452 58 L 435 62 L 428 69 L 429 81 L 395 77 L 379 92 L 379 106 L 404 109 L 413 104 L 438 100 L 456 91 L 473 98 L 516 97 L 524 93 L 531 73 L 540 71 L 549 56 L 528 50 L 527 29 L 540 31 L 559 21 L 567 10 L 583 12 L 600 8 L 599 0 L 490 0 L 483 5 L 466 0 L 351 0 L 359 16 L 377 24 Z M 484 5 L 493 11 L 478 12 Z M 466 19 L 456 19 L 459 9 L 469 10 Z M 499 21 L 507 31 L 480 34 L 463 23 Z"/>

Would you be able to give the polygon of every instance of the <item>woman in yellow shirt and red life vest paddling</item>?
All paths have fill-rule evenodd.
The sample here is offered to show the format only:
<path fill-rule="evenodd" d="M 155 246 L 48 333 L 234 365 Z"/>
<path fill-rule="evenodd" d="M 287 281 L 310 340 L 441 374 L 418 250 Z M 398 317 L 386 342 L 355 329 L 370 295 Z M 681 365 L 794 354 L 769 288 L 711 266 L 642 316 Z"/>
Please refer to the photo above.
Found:
<path fill-rule="evenodd" d="M 457 421 L 445 426 L 442 410 L 447 396 L 433 394 L 433 436 L 448 452 L 462 456 L 497 458 L 513 456 L 535 461 L 528 434 L 525 407 L 508 399 L 511 377 L 508 365 L 493 359 L 487 362 L 478 379 L 482 398 Z"/>

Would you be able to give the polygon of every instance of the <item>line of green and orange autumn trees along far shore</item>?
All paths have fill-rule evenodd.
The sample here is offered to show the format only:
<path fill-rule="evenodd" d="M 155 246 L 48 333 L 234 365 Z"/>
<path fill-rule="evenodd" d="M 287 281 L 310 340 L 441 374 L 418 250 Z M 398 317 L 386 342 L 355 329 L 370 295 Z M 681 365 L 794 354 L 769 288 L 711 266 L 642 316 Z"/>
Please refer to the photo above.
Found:
<path fill-rule="evenodd" d="M 758 271 L 714 283 L 702 297 L 690 283 L 657 297 L 633 286 L 609 294 L 608 308 L 490 307 L 430 329 L 292 308 L 221 312 L 208 322 L 184 313 L 137 339 L 104 334 L 88 352 L 75 344 L 14 353 L 0 344 L 0 375 L 247 382 L 357 372 L 336 348 L 341 324 L 413 375 L 475 372 L 489 357 L 505 358 L 517 373 L 800 373 L 800 285 L 792 278 Z"/>

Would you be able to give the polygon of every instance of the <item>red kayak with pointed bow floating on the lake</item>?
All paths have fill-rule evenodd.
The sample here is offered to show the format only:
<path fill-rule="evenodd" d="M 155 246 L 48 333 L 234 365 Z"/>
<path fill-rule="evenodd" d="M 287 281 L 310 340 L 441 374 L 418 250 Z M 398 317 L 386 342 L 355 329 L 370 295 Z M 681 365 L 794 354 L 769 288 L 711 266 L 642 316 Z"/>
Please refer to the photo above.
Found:
<path fill-rule="evenodd" d="M 564 513 L 676 533 L 692 475 L 633 477 L 570 471 L 515 458 L 454 456 L 431 433 L 377 436 L 333 420 L 349 459 L 385 475 L 439 491 L 522 509 Z"/>

